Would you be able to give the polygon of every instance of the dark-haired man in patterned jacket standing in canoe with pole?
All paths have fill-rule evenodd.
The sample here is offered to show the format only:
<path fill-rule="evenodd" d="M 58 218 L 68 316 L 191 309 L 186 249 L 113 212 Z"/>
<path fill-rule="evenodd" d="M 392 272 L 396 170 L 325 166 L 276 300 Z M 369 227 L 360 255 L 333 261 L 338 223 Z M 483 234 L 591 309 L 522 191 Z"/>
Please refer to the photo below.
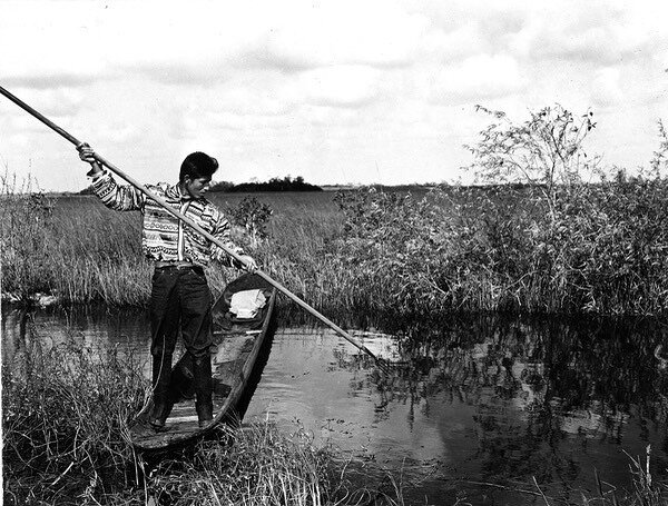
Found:
<path fill-rule="evenodd" d="M 117 185 L 111 175 L 99 166 L 90 146 L 82 143 L 77 149 L 79 158 L 91 166 L 88 176 L 95 194 L 105 206 L 119 211 L 139 210 L 144 215 L 141 248 L 155 265 L 149 306 L 154 397 L 149 423 L 154 429 L 164 430 L 171 410 L 171 355 L 180 329 L 186 350 L 193 357 L 197 418 L 199 426 L 205 427 L 213 420 L 209 355 L 213 336 L 212 292 L 204 267 L 212 258 L 235 267 L 242 266 L 143 191 L 131 185 Z M 239 255 L 244 267 L 253 271 L 257 269 L 257 264 L 229 240 L 229 222 L 204 197 L 217 169 L 215 158 L 197 151 L 188 155 L 181 163 L 178 183 L 160 182 L 147 186 L 147 189 L 223 241 Z"/>

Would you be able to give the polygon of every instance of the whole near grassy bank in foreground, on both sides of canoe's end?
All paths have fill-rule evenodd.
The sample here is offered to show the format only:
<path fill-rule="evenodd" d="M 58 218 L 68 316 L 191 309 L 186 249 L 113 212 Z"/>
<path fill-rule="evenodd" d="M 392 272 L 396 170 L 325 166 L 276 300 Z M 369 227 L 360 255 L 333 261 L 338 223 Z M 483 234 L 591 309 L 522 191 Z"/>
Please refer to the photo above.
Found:
<path fill-rule="evenodd" d="M 353 486 L 345 464 L 298 428 L 223 428 L 194 450 L 143 458 L 127 424 L 148 395 L 132 354 L 76 335 L 46 349 L 28 336 L 2 367 L 3 504 L 400 504 L 396 489 Z"/>

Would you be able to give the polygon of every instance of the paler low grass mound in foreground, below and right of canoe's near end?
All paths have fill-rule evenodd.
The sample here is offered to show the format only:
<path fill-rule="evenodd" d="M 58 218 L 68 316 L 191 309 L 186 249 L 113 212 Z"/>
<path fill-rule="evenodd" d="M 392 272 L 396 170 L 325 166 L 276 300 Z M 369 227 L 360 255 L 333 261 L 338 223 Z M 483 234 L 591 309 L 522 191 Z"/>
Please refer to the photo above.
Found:
<path fill-rule="evenodd" d="M 227 445 L 222 445 L 226 440 Z M 397 488 L 361 488 L 335 466 L 332 450 L 315 448 L 297 428 L 284 434 L 264 423 L 224 427 L 193 460 L 168 460 L 155 472 L 148 493 L 170 505 L 397 505 Z M 392 482 L 394 483 L 394 482 Z"/>

